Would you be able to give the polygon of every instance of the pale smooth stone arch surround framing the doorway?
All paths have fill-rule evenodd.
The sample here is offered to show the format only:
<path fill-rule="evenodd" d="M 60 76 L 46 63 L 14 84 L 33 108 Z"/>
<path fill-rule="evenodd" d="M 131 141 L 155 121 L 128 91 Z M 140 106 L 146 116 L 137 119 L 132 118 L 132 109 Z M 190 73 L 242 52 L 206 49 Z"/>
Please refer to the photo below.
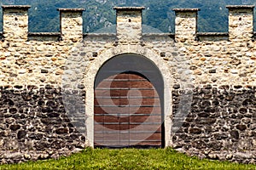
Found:
<path fill-rule="evenodd" d="M 108 59 L 121 54 L 138 54 L 154 63 L 159 68 L 164 82 L 164 126 L 165 126 L 165 146 L 172 145 L 172 73 L 169 66 L 160 58 L 160 54 L 154 53 L 149 48 L 144 48 L 137 45 L 121 45 L 115 48 L 109 48 L 102 52 L 98 57 L 87 67 L 84 77 L 84 85 L 86 91 L 85 98 L 85 114 L 86 114 L 86 136 L 85 144 L 94 146 L 94 82 L 97 72 Z"/>

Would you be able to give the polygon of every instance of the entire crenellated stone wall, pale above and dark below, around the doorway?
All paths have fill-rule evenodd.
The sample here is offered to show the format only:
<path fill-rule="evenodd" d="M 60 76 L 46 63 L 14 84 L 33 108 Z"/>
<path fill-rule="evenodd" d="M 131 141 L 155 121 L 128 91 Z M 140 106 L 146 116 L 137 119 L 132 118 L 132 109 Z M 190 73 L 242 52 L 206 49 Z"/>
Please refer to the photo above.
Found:
<path fill-rule="evenodd" d="M 253 6 L 227 6 L 229 32 L 197 32 L 199 8 L 174 8 L 175 34 L 145 34 L 143 8 L 116 7 L 116 34 L 83 34 L 84 8 L 59 8 L 61 32 L 28 32 L 30 6 L 3 5 L 0 160 L 67 156 L 94 145 L 94 81 L 138 54 L 165 83 L 164 144 L 191 156 L 255 163 Z"/>

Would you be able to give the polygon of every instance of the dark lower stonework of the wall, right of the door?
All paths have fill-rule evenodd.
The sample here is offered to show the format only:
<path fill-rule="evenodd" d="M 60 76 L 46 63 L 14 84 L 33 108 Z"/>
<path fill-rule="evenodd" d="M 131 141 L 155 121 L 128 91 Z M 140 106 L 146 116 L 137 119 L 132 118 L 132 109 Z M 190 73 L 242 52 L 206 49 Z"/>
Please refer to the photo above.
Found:
<path fill-rule="evenodd" d="M 173 146 L 201 158 L 256 162 L 256 87 L 223 85 L 218 88 L 205 85 L 194 88 L 189 115 L 175 116 L 179 96 L 173 96 Z M 182 127 L 180 125 L 182 121 Z"/>

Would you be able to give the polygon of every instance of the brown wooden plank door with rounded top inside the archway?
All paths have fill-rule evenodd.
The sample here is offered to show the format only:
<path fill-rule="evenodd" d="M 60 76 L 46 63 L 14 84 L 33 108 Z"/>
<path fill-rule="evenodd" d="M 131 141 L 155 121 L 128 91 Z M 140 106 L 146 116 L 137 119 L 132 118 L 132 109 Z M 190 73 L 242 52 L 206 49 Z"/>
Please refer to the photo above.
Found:
<path fill-rule="evenodd" d="M 147 77 L 107 77 L 96 85 L 94 103 L 95 146 L 161 146 L 160 97 Z"/>

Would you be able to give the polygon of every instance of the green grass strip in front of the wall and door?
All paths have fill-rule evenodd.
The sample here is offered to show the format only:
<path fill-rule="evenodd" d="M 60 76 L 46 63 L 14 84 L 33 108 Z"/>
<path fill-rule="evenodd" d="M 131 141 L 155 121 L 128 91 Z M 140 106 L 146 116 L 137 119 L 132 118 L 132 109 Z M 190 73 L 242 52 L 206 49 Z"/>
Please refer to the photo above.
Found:
<path fill-rule="evenodd" d="M 2 165 L 0 169 L 253 169 L 256 165 L 199 160 L 172 149 L 83 150 L 58 160 Z"/>

